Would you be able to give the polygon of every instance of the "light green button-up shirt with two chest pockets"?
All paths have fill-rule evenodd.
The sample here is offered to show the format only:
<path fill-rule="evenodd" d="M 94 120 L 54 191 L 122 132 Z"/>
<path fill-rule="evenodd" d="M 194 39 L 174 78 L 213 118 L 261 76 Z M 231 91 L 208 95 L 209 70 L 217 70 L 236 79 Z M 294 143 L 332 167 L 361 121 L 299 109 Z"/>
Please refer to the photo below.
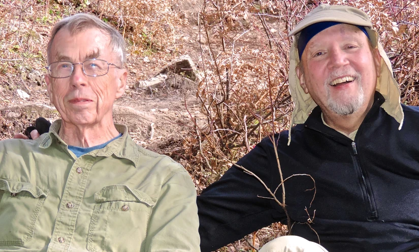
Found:
<path fill-rule="evenodd" d="M 77 158 L 58 137 L 0 141 L 1 251 L 200 251 L 196 191 L 170 157 L 122 137 Z"/>

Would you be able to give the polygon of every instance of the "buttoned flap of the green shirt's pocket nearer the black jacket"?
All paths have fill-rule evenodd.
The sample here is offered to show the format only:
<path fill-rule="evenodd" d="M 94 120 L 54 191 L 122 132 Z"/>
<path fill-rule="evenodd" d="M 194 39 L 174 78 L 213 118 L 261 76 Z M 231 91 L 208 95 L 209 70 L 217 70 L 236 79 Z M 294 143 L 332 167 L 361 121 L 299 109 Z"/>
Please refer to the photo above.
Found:
<path fill-rule="evenodd" d="M 147 194 L 131 189 L 123 184 L 108 185 L 102 188 L 101 191 L 94 194 L 96 203 L 110 202 L 110 201 L 135 201 L 146 203 L 149 206 L 155 205 L 155 200 Z"/>

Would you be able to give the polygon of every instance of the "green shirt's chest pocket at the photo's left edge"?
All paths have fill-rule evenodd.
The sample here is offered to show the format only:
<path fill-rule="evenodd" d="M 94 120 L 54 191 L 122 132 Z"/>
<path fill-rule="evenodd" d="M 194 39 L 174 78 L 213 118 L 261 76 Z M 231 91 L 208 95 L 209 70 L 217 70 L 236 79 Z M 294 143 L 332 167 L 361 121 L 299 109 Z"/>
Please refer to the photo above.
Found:
<path fill-rule="evenodd" d="M 34 184 L 0 179 L 0 246 L 22 246 L 34 237 L 47 195 Z"/>

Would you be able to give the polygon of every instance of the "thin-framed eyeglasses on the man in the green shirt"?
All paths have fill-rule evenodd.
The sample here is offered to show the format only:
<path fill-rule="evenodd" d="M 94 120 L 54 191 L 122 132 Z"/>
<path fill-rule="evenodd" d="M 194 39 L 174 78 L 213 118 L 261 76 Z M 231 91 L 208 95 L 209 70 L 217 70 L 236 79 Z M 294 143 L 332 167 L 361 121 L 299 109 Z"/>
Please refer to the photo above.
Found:
<path fill-rule="evenodd" d="M 109 65 L 120 67 L 115 64 L 108 63 L 102 59 L 87 59 L 82 63 L 72 63 L 70 61 L 56 61 L 52 62 L 48 67 L 48 73 L 52 78 L 67 78 L 70 77 L 74 71 L 74 65 L 81 65 L 83 73 L 87 76 L 98 77 L 105 75 L 109 72 Z"/>

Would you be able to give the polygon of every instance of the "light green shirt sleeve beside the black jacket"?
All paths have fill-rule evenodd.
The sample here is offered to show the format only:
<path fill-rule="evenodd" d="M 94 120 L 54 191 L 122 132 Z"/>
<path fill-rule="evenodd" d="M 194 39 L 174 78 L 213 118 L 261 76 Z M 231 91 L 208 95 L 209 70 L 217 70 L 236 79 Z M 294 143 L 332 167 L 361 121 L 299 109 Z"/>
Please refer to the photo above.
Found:
<path fill-rule="evenodd" d="M 183 167 L 175 172 L 163 184 L 151 211 L 146 252 L 200 251 L 195 185 Z"/>

